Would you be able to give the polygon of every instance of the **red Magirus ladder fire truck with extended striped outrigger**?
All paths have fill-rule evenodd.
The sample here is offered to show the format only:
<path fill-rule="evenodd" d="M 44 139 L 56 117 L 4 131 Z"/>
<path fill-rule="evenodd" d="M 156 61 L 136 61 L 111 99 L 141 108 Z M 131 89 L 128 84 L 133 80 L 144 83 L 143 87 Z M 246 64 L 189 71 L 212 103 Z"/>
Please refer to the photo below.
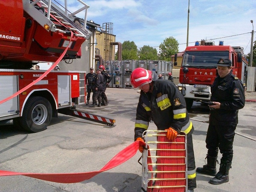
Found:
<path fill-rule="evenodd" d="M 80 58 L 91 32 L 86 29 L 89 6 L 78 2 L 83 7 L 71 13 L 66 1 L 61 7 L 51 0 L 0 0 L 0 121 L 13 119 L 24 130 L 39 132 L 62 113 L 113 126 L 113 119 L 75 110 L 85 71 L 30 69 L 35 61 L 57 65 Z M 75 16 L 82 10 L 84 20 Z"/>

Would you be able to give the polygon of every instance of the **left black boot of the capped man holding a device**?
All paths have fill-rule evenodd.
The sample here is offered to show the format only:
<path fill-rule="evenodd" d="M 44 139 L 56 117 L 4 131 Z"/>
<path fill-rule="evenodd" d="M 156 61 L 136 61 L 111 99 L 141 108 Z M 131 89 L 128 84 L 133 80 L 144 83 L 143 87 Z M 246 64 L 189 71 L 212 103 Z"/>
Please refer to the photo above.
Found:
<path fill-rule="evenodd" d="M 204 165 L 203 167 L 197 167 L 196 171 L 198 173 L 215 176 L 217 173 L 217 171 L 216 171 L 216 162 L 218 162 L 217 157 L 211 157 L 207 154 L 206 158 L 207 158 L 207 164 Z M 219 162 L 218 162 L 218 164 L 219 164 Z"/>

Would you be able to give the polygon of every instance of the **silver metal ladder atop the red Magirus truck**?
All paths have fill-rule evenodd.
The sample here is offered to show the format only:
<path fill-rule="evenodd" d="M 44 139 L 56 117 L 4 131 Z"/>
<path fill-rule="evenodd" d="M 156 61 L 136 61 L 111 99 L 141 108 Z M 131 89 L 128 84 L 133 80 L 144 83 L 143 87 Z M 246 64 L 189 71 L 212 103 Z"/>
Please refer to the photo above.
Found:
<path fill-rule="evenodd" d="M 81 0 L 78 0 L 78 2 L 84 5 L 84 7 L 71 13 L 67 9 L 66 0 L 64 5 L 65 7 L 57 1 L 55 2 L 56 4 L 51 0 L 23 0 L 23 9 L 48 32 L 68 33 L 68 35 L 70 35 L 70 31 L 72 31 L 77 37 L 89 39 L 91 32 L 86 29 L 87 9 L 89 6 Z M 84 10 L 85 21 L 82 26 L 75 22 L 77 18 L 75 14 Z"/>

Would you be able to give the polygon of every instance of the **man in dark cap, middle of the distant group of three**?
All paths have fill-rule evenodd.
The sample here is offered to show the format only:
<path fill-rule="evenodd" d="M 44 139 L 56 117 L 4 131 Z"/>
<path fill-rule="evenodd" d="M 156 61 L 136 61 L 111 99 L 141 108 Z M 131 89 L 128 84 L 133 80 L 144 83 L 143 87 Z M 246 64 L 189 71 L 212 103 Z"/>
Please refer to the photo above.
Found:
<path fill-rule="evenodd" d="M 99 102 L 97 107 L 101 106 L 101 92 L 103 89 L 103 76 L 101 74 L 101 69 L 97 69 L 96 87 L 95 92 L 93 93 L 93 104 L 90 105 L 90 107 L 95 107 L 97 100 Z"/>

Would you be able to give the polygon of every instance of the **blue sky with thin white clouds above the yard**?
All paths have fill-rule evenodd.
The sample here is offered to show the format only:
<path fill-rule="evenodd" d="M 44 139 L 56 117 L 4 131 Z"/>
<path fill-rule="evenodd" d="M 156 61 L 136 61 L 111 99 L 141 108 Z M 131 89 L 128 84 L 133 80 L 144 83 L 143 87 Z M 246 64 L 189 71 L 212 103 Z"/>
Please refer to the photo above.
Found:
<path fill-rule="evenodd" d="M 68 1 L 73 8 L 77 0 Z M 90 6 L 87 20 L 113 23 L 116 41 L 134 41 L 137 47 L 158 46 L 166 37 L 174 37 L 183 51 L 187 42 L 188 0 L 84 0 Z M 78 5 L 79 6 L 79 5 Z M 256 31 L 256 1 L 254 0 L 190 0 L 189 46 L 201 39 L 220 40 L 224 45 L 244 47 L 250 52 L 253 20 Z M 84 14 L 78 15 L 84 17 Z M 247 33 L 244 35 L 239 35 Z M 254 41 L 256 33 L 254 32 Z M 190 43 L 191 42 L 191 43 Z"/>

